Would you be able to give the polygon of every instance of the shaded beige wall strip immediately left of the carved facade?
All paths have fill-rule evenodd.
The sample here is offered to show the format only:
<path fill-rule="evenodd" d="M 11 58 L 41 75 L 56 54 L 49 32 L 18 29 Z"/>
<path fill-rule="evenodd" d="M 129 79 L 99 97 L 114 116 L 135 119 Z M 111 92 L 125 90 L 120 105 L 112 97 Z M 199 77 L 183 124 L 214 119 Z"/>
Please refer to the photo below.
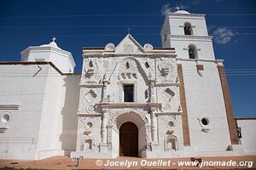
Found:
<path fill-rule="evenodd" d="M 64 78 L 64 87 L 66 87 L 66 91 L 64 92 L 64 107 L 61 111 L 62 133 L 60 141 L 61 150 L 64 150 L 65 156 L 70 156 L 71 151 L 76 150 L 80 77 L 80 75 L 69 75 Z"/>

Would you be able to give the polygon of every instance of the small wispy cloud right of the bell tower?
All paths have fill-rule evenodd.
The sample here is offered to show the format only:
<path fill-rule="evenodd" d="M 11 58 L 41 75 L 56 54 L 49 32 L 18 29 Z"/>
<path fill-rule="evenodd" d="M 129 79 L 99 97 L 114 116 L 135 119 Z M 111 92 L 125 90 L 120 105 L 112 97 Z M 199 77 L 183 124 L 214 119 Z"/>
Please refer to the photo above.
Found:
<path fill-rule="evenodd" d="M 218 28 L 213 31 L 213 38 L 218 44 L 224 44 L 232 41 L 232 38 L 236 36 L 236 32 L 227 28 Z"/>

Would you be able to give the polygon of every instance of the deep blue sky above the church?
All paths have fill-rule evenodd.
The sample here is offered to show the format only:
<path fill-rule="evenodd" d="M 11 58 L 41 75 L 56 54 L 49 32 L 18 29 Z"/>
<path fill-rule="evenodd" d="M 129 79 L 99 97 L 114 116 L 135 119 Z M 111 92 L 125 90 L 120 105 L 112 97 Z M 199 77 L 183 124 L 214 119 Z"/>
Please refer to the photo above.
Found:
<path fill-rule="evenodd" d="M 117 44 L 131 27 L 138 42 L 160 47 L 164 13 L 181 7 L 207 14 L 217 59 L 224 59 L 235 116 L 256 116 L 254 0 L 0 1 L 0 60 L 18 61 L 28 46 L 49 43 L 72 52 L 81 72 L 82 47 Z"/>

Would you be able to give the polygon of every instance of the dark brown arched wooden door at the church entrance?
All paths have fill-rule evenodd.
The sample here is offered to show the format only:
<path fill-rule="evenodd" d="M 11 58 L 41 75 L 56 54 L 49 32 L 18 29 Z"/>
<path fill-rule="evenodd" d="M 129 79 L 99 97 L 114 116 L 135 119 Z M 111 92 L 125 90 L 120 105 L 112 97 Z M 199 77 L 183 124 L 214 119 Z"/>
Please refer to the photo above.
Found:
<path fill-rule="evenodd" d="M 138 129 L 133 122 L 119 128 L 119 156 L 138 156 Z"/>

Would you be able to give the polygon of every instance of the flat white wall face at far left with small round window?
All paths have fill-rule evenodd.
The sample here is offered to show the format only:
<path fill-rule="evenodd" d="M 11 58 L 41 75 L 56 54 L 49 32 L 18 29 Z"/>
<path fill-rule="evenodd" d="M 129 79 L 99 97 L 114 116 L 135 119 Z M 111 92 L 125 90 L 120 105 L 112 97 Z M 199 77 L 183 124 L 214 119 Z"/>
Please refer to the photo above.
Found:
<path fill-rule="evenodd" d="M 33 77 L 39 70 L 42 71 Z M 0 133 L 1 159 L 35 159 L 49 65 L 0 65 L 0 105 L 20 105 L 9 112 L 8 129 Z M 1 127 L 3 127 L 1 122 Z"/>

